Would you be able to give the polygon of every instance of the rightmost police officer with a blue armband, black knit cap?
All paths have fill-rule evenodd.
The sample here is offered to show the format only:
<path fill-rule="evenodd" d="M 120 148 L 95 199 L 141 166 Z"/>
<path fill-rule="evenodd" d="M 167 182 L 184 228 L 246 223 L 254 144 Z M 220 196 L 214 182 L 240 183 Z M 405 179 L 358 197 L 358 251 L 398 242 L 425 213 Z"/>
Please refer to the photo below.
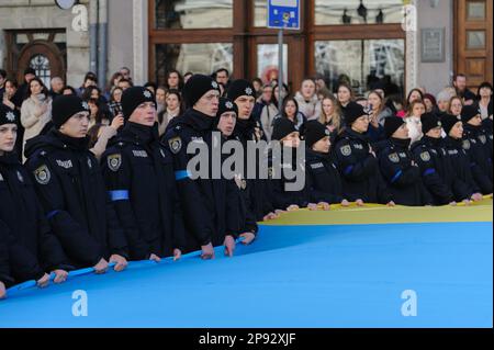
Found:
<path fill-rule="evenodd" d="M 456 205 L 456 197 L 462 201 L 468 194 L 461 193 L 462 188 L 456 184 L 454 170 L 441 137 L 442 124 L 436 113 L 423 114 L 420 122 L 424 136 L 411 149 L 420 169 L 422 181 L 435 205 Z"/>

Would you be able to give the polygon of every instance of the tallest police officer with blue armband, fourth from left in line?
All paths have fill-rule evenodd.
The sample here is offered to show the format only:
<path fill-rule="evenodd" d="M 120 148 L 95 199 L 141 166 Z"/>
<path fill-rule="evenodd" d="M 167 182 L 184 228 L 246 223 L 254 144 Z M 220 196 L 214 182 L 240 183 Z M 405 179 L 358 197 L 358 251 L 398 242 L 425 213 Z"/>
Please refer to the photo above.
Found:
<path fill-rule="evenodd" d="M 235 188 L 223 179 L 211 179 L 211 169 L 199 169 L 200 172 L 206 171 L 207 176 L 193 179 L 192 170 L 188 168 L 192 158 L 211 159 L 220 88 L 211 77 L 194 75 L 187 81 L 182 93 L 188 110 L 165 134 L 164 143 L 173 154 L 175 178 L 189 234 L 187 250 L 201 249 L 203 259 L 212 259 L 213 247 L 224 245 L 226 253 L 232 256 L 239 224 L 236 195 L 235 192 L 229 193 Z M 191 154 L 187 151 L 189 146 L 195 148 Z"/>

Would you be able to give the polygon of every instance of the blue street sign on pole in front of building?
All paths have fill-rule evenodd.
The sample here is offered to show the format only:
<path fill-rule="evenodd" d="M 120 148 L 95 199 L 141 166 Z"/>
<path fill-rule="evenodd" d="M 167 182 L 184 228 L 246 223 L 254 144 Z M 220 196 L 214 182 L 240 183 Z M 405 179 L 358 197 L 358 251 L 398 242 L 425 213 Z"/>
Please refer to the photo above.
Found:
<path fill-rule="evenodd" d="M 300 30 L 300 0 L 268 0 L 268 27 Z"/>

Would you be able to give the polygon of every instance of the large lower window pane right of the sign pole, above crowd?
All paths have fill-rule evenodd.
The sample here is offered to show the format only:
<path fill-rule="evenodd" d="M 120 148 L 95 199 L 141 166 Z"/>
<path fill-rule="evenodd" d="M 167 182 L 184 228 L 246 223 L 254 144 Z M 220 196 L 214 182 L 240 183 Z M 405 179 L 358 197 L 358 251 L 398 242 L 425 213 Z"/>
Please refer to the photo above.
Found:
<path fill-rule="evenodd" d="M 316 71 L 336 92 L 340 81 L 359 94 L 375 89 L 403 93 L 405 84 L 404 39 L 357 39 L 315 42 Z"/>

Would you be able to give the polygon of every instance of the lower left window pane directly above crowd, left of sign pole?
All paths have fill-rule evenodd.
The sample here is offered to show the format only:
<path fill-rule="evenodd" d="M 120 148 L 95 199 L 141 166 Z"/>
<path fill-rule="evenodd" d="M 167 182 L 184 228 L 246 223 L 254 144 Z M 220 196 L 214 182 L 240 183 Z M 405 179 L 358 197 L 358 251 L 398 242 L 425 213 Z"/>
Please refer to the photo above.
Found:
<path fill-rule="evenodd" d="M 211 75 L 220 68 L 233 71 L 232 43 L 158 44 L 156 45 L 156 81 L 165 83 L 166 74 L 177 69 L 182 75 Z"/>

